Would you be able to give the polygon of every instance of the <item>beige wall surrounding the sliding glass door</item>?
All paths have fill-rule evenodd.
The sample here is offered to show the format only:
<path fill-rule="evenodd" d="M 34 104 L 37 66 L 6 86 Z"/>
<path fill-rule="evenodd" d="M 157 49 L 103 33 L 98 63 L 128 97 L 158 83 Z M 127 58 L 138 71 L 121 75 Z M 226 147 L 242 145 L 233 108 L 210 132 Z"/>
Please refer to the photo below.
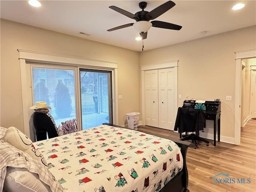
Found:
<path fill-rule="evenodd" d="M 75 36 L 1 19 L 0 125 L 24 132 L 20 63 L 17 49 L 118 63 L 119 124 L 126 113 L 140 111 L 139 53 Z"/>

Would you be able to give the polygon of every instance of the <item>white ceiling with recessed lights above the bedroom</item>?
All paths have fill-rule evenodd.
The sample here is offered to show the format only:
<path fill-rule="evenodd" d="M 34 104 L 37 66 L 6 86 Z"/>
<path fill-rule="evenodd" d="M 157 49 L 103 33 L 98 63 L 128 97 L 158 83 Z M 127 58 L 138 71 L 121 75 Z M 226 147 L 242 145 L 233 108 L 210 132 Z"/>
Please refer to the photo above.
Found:
<path fill-rule="evenodd" d="M 27 0 L 1 0 L 1 18 L 70 34 L 135 51 L 142 51 L 142 41 L 133 26 L 108 32 L 110 28 L 133 23 L 110 8 L 117 6 L 135 14 L 140 11 L 138 4 L 143 0 L 41 0 L 42 6 L 32 7 Z M 166 0 L 167 1 L 167 0 Z M 162 0 L 146 0 L 146 11 L 150 12 L 165 3 Z M 183 26 L 180 31 L 151 27 L 144 40 L 144 50 L 194 40 L 238 28 L 256 25 L 255 0 L 174 0 L 176 6 L 155 20 Z M 232 6 L 242 2 L 242 10 Z M 207 31 L 202 35 L 201 32 Z M 90 36 L 79 34 L 84 32 Z"/>

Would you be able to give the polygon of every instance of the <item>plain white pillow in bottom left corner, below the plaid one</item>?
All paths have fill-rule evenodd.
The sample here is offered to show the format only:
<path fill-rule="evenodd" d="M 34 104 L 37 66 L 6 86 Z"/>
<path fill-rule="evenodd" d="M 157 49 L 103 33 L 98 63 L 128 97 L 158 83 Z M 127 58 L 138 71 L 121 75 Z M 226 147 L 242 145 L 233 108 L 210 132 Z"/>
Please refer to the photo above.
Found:
<path fill-rule="evenodd" d="M 29 172 L 26 168 L 7 167 L 4 189 L 8 192 L 46 192 L 50 186 L 39 179 L 38 174 Z"/>

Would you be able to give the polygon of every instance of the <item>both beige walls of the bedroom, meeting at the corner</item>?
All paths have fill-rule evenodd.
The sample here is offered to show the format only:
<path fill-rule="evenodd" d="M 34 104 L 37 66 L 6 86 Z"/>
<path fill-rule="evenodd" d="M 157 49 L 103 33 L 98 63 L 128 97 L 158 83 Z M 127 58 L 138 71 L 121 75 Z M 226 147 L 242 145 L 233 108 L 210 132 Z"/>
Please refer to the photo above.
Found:
<path fill-rule="evenodd" d="M 90 40 L 1 20 L 0 125 L 23 128 L 17 48 L 118 62 L 119 124 L 126 113 L 141 112 L 139 65 L 178 62 L 178 106 L 189 98 L 222 102 L 221 136 L 234 138 L 235 51 L 256 48 L 256 26 L 155 50 L 135 52 Z M 232 96 L 232 101 L 226 101 Z M 26 109 L 24 109 L 26 110 Z M 206 132 L 213 133 L 212 121 Z"/>

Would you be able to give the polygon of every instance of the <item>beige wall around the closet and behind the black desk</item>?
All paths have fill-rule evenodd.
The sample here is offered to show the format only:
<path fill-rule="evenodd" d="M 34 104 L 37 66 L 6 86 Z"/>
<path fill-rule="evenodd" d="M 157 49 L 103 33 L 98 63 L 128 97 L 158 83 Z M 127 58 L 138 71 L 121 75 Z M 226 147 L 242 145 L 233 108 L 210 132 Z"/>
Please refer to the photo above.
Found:
<path fill-rule="evenodd" d="M 172 37 L 170 37 L 172 38 Z M 189 99 L 220 98 L 221 136 L 234 138 L 235 51 L 256 48 L 256 26 L 242 28 L 172 46 L 140 52 L 140 65 L 179 60 L 178 106 Z M 232 101 L 226 101 L 232 96 Z M 213 133 L 212 121 L 206 131 Z"/>

